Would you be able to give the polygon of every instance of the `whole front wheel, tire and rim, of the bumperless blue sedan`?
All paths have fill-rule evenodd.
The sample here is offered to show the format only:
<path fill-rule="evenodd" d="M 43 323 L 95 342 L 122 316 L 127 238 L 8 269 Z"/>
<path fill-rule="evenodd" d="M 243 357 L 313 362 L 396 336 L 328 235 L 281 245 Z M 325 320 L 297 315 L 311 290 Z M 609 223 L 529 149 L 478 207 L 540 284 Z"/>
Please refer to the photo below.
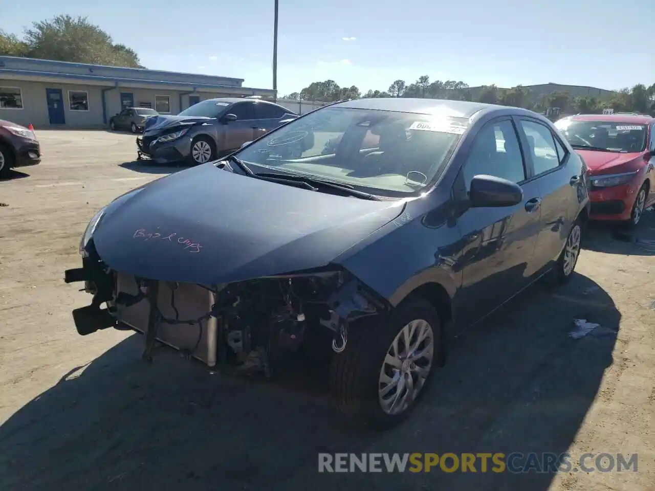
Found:
<path fill-rule="evenodd" d="M 379 429 L 405 420 L 426 391 L 440 342 L 438 313 L 423 299 L 351 325 L 330 375 L 341 412 Z"/>

